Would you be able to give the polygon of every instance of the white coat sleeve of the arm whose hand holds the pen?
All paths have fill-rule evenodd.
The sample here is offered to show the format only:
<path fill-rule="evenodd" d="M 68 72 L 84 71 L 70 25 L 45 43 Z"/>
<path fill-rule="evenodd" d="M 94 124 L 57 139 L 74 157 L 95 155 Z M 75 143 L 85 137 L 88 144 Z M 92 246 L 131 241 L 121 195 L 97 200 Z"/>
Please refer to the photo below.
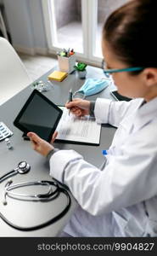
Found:
<path fill-rule="evenodd" d="M 127 114 L 135 111 L 142 99 L 130 102 L 113 102 L 109 99 L 98 98 L 95 102 L 94 115 L 97 123 L 109 124 L 118 127 Z"/>

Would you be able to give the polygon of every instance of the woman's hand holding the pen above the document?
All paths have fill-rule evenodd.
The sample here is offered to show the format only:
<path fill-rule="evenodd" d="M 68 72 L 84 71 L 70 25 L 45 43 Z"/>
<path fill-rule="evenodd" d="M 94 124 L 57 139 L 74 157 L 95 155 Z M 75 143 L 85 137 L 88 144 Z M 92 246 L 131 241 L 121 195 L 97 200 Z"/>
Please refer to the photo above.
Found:
<path fill-rule="evenodd" d="M 89 114 L 90 102 L 76 98 L 72 102 L 67 102 L 65 107 L 70 109 L 71 113 L 76 116 L 83 116 Z"/>

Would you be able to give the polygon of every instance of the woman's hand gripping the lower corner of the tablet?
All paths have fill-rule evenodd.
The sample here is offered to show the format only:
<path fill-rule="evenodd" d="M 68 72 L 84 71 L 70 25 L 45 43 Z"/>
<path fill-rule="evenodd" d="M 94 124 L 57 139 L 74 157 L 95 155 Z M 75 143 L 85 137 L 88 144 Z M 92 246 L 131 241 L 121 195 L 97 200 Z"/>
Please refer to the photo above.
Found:
<path fill-rule="evenodd" d="M 57 137 L 57 131 L 53 133 L 52 141 L 54 142 L 55 138 Z M 37 136 L 34 132 L 28 132 L 27 136 L 30 137 L 31 145 L 36 152 L 42 154 L 43 156 L 47 156 L 48 153 L 54 149 L 53 145 L 43 140 L 41 137 Z"/>

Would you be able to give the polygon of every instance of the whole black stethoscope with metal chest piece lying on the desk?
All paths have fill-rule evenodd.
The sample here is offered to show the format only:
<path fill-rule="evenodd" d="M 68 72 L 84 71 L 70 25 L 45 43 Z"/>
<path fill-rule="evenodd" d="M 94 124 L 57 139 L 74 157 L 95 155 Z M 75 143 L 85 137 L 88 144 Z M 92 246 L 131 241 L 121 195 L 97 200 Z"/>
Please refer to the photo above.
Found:
<path fill-rule="evenodd" d="M 23 174 L 23 173 L 29 172 L 30 169 L 31 169 L 31 166 L 28 165 L 25 161 L 20 162 L 20 164 L 16 169 L 6 173 L 5 175 L 3 175 L 3 177 L 0 178 L 0 183 L 3 182 L 3 180 L 5 180 L 6 178 L 13 176 L 14 174 L 17 174 L 17 173 Z M 60 218 L 62 218 L 66 214 L 66 212 L 68 212 L 70 208 L 70 204 L 71 204 L 70 195 L 68 191 L 63 187 L 60 187 L 59 183 L 57 182 L 43 180 L 43 181 L 35 181 L 35 182 L 28 182 L 28 183 L 17 183 L 17 184 L 12 184 L 12 183 L 13 183 L 12 180 L 9 180 L 4 187 L 4 200 L 3 200 L 4 206 L 7 205 L 7 196 L 14 198 L 16 200 L 24 200 L 24 201 L 53 201 L 60 195 L 60 193 L 63 193 L 66 196 L 66 205 L 62 210 L 62 212 L 59 212 L 57 216 L 49 219 L 48 221 L 42 224 L 38 224 L 31 227 L 18 226 L 17 224 L 14 224 L 11 221 L 9 221 L 8 218 L 5 218 L 4 215 L 0 212 L 0 218 L 2 218 L 6 224 L 14 228 L 15 230 L 32 231 L 32 230 L 42 229 L 58 221 Z M 48 187 L 48 191 L 42 194 L 35 194 L 35 195 L 21 194 L 13 191 L 14 189 L 18 189 L 18 188 L 23 188 L 28 186 L 39 186 L 39 185 Z"/>

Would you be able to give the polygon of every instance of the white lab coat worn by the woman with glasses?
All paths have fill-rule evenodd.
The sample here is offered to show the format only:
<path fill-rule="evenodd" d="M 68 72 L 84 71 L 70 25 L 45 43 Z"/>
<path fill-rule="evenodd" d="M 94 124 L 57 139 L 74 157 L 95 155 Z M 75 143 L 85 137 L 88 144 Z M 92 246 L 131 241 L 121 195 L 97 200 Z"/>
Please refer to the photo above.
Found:
<path fill-rule="evenodd" d="M 157 236 L 157 97 L 142 103 L 97 99 L 97 122 L 118 127 L 103 171 L 74 150 L 51 157 L 50 175 L 80 205 L 70 236 Z"/>

